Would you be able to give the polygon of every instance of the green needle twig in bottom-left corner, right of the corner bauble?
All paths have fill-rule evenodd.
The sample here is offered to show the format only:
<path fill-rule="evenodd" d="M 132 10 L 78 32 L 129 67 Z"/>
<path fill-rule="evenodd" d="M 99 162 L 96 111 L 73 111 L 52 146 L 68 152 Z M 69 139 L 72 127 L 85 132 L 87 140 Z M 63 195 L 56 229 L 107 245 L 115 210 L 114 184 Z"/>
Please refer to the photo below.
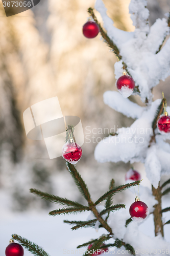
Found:
<path fill-rule="evenodd" d="M 26 238 L 22 238 L 17 234 L 12 234 L 12 238 L 19 242 L 23 247 L 25 247 L 28 251 L 33 253 L 36 256 L 50 256 L 47 252 L 45 252 L 41 247 L 27 240 Z"/>

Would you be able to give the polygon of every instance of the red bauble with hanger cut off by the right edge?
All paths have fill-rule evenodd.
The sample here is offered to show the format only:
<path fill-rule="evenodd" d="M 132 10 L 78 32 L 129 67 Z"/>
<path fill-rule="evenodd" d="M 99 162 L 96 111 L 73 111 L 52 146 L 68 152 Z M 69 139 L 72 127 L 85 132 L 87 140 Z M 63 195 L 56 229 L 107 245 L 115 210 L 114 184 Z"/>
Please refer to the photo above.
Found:
<path fill-rule="evenodd" d="M 164 98 L 163 93 L 162 93 L 162 96 Z M 165 104 L 163 102 L 163 108 L 164 108 L 164 113 L 158 119 L 157 127 L 161 134 L 167 134 L 167 133 L 170 133 L 170 116 L 168 116 L 166 112 L 166 99 L 165 99 Z"/>

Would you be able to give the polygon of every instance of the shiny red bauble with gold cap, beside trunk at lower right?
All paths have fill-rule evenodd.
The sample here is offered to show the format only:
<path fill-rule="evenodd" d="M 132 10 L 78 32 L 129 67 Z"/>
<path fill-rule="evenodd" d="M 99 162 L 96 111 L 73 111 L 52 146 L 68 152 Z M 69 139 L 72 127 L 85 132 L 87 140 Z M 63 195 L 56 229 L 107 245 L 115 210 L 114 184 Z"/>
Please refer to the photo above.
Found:
<path fill-rule="evenodd" d="M 135 202 L 131 204 L 129 208 L 129 213 L 133 221 L 141 222 L 143 219 L 147 218 L 149 215 L 149 208 L 147 204 L 140 201 L 138 197 L 135 198 Z"/>

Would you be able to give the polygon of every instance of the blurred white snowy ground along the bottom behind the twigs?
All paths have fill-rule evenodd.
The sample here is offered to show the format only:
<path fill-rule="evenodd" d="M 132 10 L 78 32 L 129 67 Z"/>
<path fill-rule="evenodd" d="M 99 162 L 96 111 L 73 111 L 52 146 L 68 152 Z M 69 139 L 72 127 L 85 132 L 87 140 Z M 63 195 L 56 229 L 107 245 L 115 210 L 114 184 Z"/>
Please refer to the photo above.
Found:
<path fill-rule="evenodd" d="M 0 232 L 0 255 L 5 256 L 5 248 L 7 247 L 11 234 L 16 233 L 25 237 L 48 252 L 51 256 L 62 255 L 83 255 L 81 251 L 76 251 L 79 244 L 98 238 L 102 233 L 106 233 L 104 229 L 96 232 L 93 228 L 83 228 L 72 231 L 68 224 L 63 220 L 83 220 L 87 219 L 88 213 L 72 216 L 56 216 L 47 215 L 47 211 L 29 212 L 27 214 L 3 214 L 1 212 L 1 232 Z M 148 236 L 154 237 L 153 217 L 149 218 L 140 225 L 140 231 Z M 170 242 L 169 225 L 164 228 L 166 241 Z M 71 253 L 72 250 L 72 253 Z M 25 250 L 25 256 L 32 255 Z"/>

